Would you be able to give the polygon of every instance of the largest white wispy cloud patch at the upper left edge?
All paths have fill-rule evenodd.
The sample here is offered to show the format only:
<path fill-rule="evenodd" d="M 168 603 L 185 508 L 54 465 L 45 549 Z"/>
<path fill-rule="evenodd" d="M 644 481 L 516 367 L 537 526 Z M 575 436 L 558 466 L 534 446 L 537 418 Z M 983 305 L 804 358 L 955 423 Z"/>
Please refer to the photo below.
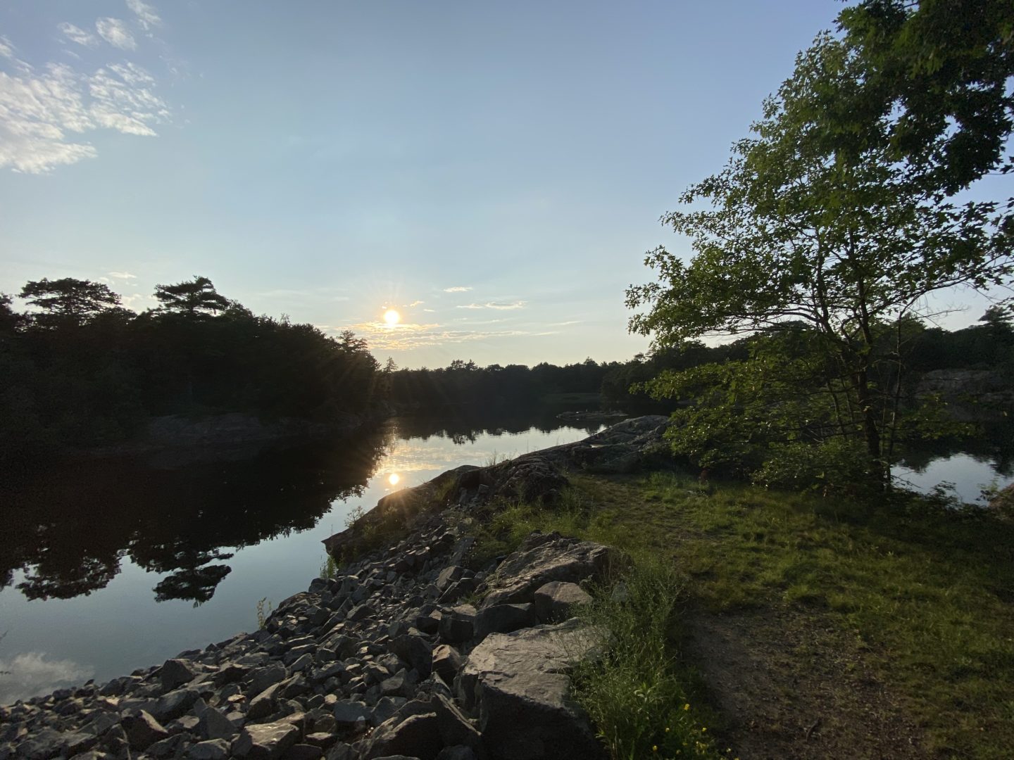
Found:
<path fill-rule="evenodd" d="M 10 49 L 3 58 L 18 72 L 0 71 L 0 167 L 46 173 L 97 155 L 71 135 L 111 129 L 152 137 L 152 125 L 169 119 L 154 78 L 136 64 L 111 64 L 92 74 L 58 63 L 37 70 L 14 57 L 9 41 L 3 44 Z"/>

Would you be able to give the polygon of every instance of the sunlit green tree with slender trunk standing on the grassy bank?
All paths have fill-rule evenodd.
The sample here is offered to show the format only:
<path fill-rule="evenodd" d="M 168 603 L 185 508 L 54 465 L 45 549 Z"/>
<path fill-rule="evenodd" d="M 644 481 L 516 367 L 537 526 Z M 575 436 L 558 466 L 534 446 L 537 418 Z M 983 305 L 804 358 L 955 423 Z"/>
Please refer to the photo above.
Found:
<path fill-rule="evenodd" d="M 869 471 L 883 478 L 897 422 L 903 325 L 927 314 L 928 295 L 1002 285 L 1014 268 L 1001 204 L 957 205 L 948 198 L 947 172 L 931 181 L 912 170 L 914 161 L 899 160 L 894 116 L 864 97 L 861 54 L 822 34 L 797 57 L 793 77 L 765 102 L 754 136 L 734 145 L 723 171 L 680 198 L 698 208 L 663 216 L 691 238 L 690 262 L 661 246 L 649 252 L 646 264 L 660 282 L 632 286 L 627 303 L 648 309 L 631 319 L 631 329 L 654 334 L 661 346 L 801 322 L 814 358 L 788 376 L 821 389 L 834 428 L 863 441 Z M 764 355 L 772 345 L 753 347 L 747 374 L 758 387 L 780 372 Z M 762 367 L 770 372 L 757 375 Z M 742 390 L 745 370 L 737 372 Z M 670 374 L 655 390 L 684 387 Z M 726 413 L 733 409 L 728 402 Z M 808 429 L 808 414 L 800 411 L 792 435 Z"/>

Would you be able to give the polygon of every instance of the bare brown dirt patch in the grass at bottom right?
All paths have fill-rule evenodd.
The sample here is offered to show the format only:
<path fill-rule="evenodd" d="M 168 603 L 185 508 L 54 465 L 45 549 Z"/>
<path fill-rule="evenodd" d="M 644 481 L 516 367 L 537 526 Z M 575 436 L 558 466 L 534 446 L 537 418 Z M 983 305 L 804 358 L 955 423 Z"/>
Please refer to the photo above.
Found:
<path fill-rule="evenodd" d="M 788 610 L 685 610 L 682 657 L 740 760 L 926 758 L 921 732 L 857 648 Z"/>

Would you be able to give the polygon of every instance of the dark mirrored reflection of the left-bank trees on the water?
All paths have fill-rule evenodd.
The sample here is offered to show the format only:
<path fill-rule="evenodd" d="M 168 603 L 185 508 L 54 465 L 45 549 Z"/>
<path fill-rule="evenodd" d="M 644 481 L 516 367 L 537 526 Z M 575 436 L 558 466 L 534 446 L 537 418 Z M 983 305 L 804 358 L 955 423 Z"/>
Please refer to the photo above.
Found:
<path fill-rule="evenodd" d="M 129 556 L 167 574 L 156 601 L 206 602 L 230 571 L 222 549 L 312 528 L 336 499 L 362 495 L 382 452 L 378 433 L 173 469 L 54 464 L 0 492 L 0 588 L 23 571 L 17 588 L 29 599 L 89 594 Z"/>

